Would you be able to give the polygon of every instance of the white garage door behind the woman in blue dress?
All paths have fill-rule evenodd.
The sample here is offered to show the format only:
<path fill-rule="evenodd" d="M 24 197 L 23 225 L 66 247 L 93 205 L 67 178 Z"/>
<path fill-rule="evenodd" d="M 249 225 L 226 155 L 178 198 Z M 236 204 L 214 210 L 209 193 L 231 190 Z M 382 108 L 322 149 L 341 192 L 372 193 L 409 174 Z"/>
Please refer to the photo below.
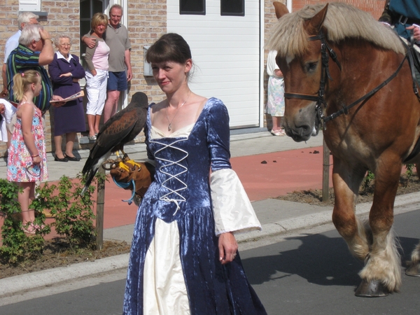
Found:
<path fill-rule="evenodd" d="M 195 62 L 191 89 L 221 99 L 232 128 L 260 125 L 260 2 L 244 2 L 244 16 L 221 15 L 221 0 L 181 15 L 180 0 L 167 0 L 167 31 L 186 39 Z"/>

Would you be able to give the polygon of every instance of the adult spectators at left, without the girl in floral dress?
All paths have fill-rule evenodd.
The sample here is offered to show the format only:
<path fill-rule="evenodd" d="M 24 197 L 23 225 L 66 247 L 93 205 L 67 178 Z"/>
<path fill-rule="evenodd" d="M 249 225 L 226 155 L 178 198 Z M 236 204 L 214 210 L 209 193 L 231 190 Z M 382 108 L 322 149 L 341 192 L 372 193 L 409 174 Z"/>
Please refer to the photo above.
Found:
<path fill-rule="evenodd" d="M 105 123 L 116 113 L 120 92 L 127 90 L 127 83 L 132 79 L 130 40 L 127 28 L 120 23 L 123 8 L 113 5 L 109 15 L 110 19 L 104 13 L 95 14 L 92 18 L 92 29 L 82 38 L 87 46 L 83 68 L 80 58 L 70 53 L 73 38 L 59 35 L 52 41 L 50 33 L 39 25 L 38 15 L 20 13 L 19 29 L 8 38 L 4 49 L 0 141 L 7 142 L 9 147 L 15 125 L 18 100 L 12 92 L 13 76 L 27 69 L 34 69 L 41 73 L 42 78 L 42 88 L 40 94 L 34 98 L 34 104 L 40 109 L 43 119 L 45 112 L 52 106 L 55 161 L 80 160 L 73 155 L 73 144 L 78 132 L 87 131 L 83 98 L 69 102 L 63 102 L 63 99 L 80 92 L 79 80 L 86 78 L 88 139 L 95 141 L 99 132 L 99 121 L 103 117 Z M 44 66 L 48 66 L 48 71 Z M 45 126 L 44 121 L 43 123 Z M 64 152 L 63 135 L 66 138 Z"/>

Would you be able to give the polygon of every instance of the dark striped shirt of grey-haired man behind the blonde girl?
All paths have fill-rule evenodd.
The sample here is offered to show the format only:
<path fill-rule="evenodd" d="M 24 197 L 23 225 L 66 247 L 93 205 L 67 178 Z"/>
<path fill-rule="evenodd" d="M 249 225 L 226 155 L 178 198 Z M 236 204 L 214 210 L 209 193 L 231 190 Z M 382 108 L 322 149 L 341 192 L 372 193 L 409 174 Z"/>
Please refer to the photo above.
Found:
<path fill-rule="evenodd" d="M 50 108 L 52 84 L 45 68 L 39 65 L 39 54 L 40 52 L 32 51 L 20 44 L 18 45 L 18 48 L 10 52 L 6 64 L 7 89 L 9 91 L 10 101 L 19 103 L 19 100 L 15 99 L 15 96 L 13 95 L 13 76 L 15 76 L 16 73 L 22 73 L 26 70 L 39 71 L 42 77 L 42 89 L 39 95 L 34 98 L 34 104 L 38 109 L 41 109 L 41 111 L 45 113 L 45 111 L 48 111 Z"/>

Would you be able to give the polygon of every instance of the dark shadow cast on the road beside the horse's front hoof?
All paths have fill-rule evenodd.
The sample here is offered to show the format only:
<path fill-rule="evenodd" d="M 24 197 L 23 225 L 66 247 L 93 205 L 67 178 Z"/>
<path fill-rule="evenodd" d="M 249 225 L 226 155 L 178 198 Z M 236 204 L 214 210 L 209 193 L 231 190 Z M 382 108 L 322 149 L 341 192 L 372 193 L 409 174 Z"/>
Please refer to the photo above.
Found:
<path fill-rule="evenodd" d="M 334 231 L 335 232 L 335 231 Z M 335 232 L 336 233 L 336 232 Z M 281 243 L 258 248 L 259 257 L 244 258 L 242 263 L 252 285 L 297 275 L 321 286 L 354 286 L 360 284 L 358 272 L 363 262 L 356 260 L 341 237 L 308 235 L 290 237 Z M 401 237 L 402 272 L 418 239 Z M 290 246 L 295 248 L 288 249 Z M 287 247 L 287 248 L 286 248 Z M 276 253 L 271 255 L 272 253 Z"/>

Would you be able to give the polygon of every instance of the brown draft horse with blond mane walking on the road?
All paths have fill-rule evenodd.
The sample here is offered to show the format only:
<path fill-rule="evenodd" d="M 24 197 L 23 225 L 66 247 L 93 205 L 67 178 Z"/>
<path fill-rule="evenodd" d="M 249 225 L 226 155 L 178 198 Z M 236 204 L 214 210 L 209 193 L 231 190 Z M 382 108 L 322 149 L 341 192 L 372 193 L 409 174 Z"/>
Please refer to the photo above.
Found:
<path fill-rule="evenodd" d="M 274 6 L 279 21 L 267 48 L 278 51 L 276 62 L 284 76 L 283 125 L 295 141 L 307 141 L 323 120 L 334 161 L 332 221 L 351 253 L 365 262 L 356 295 L 398 291 L 401 262 L 392 230 L 393 204 L 402 163 L 420 162 L 413 153 L 420 103 L 405 46 L 392 29 L 344 3 L 305 6 L 288 14 L 283 4 Z M 374 199 L 369 222 L 363 224 L 355 200 L 368 169 L 375 176 Z M 420 244 L 407 274 L 420 276 L 419 260 Z"/>

